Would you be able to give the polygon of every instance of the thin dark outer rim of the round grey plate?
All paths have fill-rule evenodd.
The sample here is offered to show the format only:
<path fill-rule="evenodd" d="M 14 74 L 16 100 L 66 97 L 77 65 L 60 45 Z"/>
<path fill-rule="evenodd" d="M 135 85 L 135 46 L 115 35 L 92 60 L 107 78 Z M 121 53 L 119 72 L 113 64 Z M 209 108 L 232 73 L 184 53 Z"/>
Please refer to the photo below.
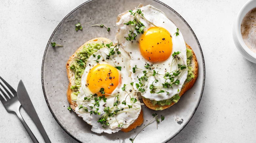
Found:
<path fill-rule="evenodd" d="M 56 28 L 54 29 L 54 31 L 53 31 L 51 37 L 49 38 L 49 40 L 48 40 L 48 42 L 47 42 L 47 45 L 46 45 L 46 48 L 45 48 L 45 51 L 44 51 L 44 55 L 43 55 L 42 67 L 41 67 L 41 83 L 42 83 L 42 89 L 43 89 L 44 98 L 45 98 L 45 101 L 46 101 L 46 103 L 47 103 L 47 106 L 48 106 L 48 108 L 49 108 L 51 114 L 53 115 L 53 118 L 56 120 L 56 122 L 59 124 L 59 126 L 60 126 L 68 135 L 70 135 L 73 139 L 75 139 L 75 140 L 76 140 L 77 142 L 79 142 L 79 143 L 82 143 L 82 142 L 81 142 L 80 140 L 78 140 L 74 135 L 70 134 L 70 132 L 68 132 L 68 131 L 66 130 L 66 128 L 65 128 L 65 127 L 59 122 L 59 120 L 56 118 L 56 116 L 55 116 L 54 113 L 53 113 L 53 110 L 52 110 L 51 107 L 50 107 L 50 104 L 49 104 L 49 102 L 48 102 L 47 96 L 46 96 L 46 94 L 45 94 L 45 87 L 44 87 L 44 80 L 43 80 L 43 78 L 44 78 L 44 77 L 43 77 L 43 69 L 44 69 L 45 55 L 46 55 L 47 49 L 48 49 L 48 47 L 49 47 L 48 45 L 50 44 L 50 42 L 51 42 L 50 40 L 53 38 L 53 36 L 54 36 L 56 30 L 57 30 L 57 29 L 59 28 L 59 26 L 64 22 L 64 20 L 65 20 L 68 16 L 70 16 L 75 10 L 77 10 L 77 9 L 80 8 L 81 6 L 87 4 L 87 3 L 91 2 L 91 1 L 94 1 L 94 0 L 88 0 L 88 1 L 86 1 L 86 2 L 84 2 L 84 3 L 82 3 L 81 5 L 77 6 L 75 9 L 73 9 L 71 12 L 69 12 L 69 13 L 60 21 L 60 23 L 56 26 Z M 193 113 L 192 113 L 192 116 L 189 117 L 189 120 L 185 123 L 185 125 L 184 125 L 179 131 L 177 131 L 177 132 L 175 133 L 175 135 L 173 135 L 172 137 L 170 137 L 170 138 L 167 139 L 167 141 L 165 142 L 165 143 L 167 143 L 168 141 L 170 141 L 171 139 L 173 139 L 176 135 L 178 135 L 178 134 L 186 127 L 186 125 L 190 122 L 190 120 L 192 119 L 192 117 L 195 115 L 195 112 L 196 112 L 196 110 L 197 110 L 197 108 L 198 108 L 198 106 L 199 106 L 199 104 L 200 104 L 200 102 L 201 102 L 202 96 L 203 96 L 203 90 L 204 90 L 204 84 L 205 84 L 205 63 L 204 63 L 203 51 L 202 51 L 201 45 L 200 45 L 200 43 L 199 43 L 199 40 L 197 39 L 197 36 L 195 35 L 195 33 L 194 33 L 194 31 L 192 30 L 192 28 L 190 27 L 190 25 L 186 22 L 186 20 L 185 20 L 177 11 L 175 11 L 173 8 L 169 7 L 169 6 L 166 5 L 165 3 L 160 2 L 159 0 L 153 0 L 153 1 L 158 2 L 158 3 L 160 3 L 161 5 L 163 5 L 163 6 L 167 7 L 167 8 L 169 8 L 170 10 L 172 10 L 172 11 L 173 11 L 175 14 L 177 14 L 177 15 L 182 19 L 182 21 L 189 27 L 189 29 L 191 30 L 192 34 L 194 35 L 194 37 L 195 37 L 195 39 L 196 39 L 196 41 L 197 41 L 197 44 L 198 44 L 198 46 L 199 46 L 199 49 L 200 49 L 200 52 L 201 52 L 201 55 L 202 55 L 202 62 L 203 62 L 203 63 L 202 63 L 202 64 L 203 64 L 203 85 L 202 85 L 202 91 L 201 91 L 201 93 L 200 93 L 199 102 L 197 103 L 196 108 L 194 109 L 194 111 L 193 111 Z"/>

